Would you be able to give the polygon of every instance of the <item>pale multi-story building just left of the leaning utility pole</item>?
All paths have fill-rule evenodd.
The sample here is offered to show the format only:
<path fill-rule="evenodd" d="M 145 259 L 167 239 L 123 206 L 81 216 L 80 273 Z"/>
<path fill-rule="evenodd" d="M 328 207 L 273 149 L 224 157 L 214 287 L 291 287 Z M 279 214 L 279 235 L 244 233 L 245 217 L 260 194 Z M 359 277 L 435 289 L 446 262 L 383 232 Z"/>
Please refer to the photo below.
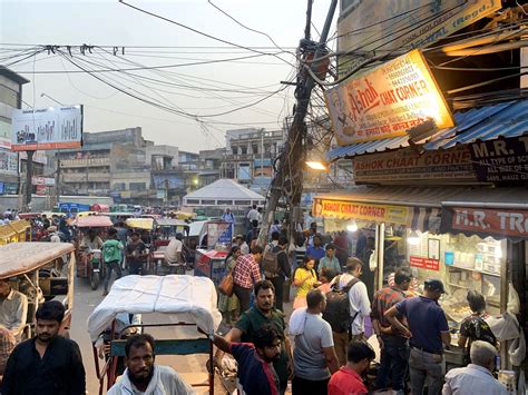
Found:
<path fill-rule="evenodd" d="M 267 188 L 273 177 L 273 160 L 284 144 L 284 130 L 227 130 L 222 177 L 235 179 L 252 189 Z"/>

